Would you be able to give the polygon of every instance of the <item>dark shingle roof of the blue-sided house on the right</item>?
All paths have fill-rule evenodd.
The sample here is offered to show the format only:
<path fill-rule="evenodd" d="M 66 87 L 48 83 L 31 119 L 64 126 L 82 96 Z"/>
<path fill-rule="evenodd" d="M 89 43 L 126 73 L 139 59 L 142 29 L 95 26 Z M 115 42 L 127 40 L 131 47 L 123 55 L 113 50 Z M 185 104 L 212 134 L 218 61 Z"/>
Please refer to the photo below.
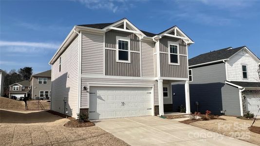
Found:
<path fill-rule="evenodd" d="M 232 47 L 228 47 L 217 51 L 212 51 L 209 53 L 198 55 L 196 57 L 189 59 L 189 66 L 227 59 L 232 55 L 234 55 L 235 53 L 237 53 L 238 51 L 240 51 L 244 47 L 245 46 L 241 46 L 234 49 L 232 49 Z"/>

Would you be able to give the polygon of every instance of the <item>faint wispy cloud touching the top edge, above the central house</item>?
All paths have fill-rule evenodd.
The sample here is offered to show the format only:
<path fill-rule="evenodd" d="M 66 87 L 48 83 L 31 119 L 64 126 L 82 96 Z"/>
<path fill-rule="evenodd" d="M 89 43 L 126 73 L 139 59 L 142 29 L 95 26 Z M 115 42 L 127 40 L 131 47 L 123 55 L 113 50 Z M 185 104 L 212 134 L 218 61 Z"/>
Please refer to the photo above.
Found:
<path fill-rule="evenodd" d="M 89 9 L 107 9 L 113 13 L 128 10 L 127 0 L 75 0 L 84 4 Z M 131 3 L 130 7 L 134 7 Z"/>

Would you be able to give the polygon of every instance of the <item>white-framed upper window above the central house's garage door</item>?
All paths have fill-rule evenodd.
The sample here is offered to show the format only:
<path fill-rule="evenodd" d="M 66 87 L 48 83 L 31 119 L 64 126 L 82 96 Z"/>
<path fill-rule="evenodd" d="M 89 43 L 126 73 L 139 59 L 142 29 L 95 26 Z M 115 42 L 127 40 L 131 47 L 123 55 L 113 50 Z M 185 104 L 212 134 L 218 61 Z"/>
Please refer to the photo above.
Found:
<path fill-rule="evenodd" d="M 130 63 L 130 38 L 116 37 L 116 61 Z"/>

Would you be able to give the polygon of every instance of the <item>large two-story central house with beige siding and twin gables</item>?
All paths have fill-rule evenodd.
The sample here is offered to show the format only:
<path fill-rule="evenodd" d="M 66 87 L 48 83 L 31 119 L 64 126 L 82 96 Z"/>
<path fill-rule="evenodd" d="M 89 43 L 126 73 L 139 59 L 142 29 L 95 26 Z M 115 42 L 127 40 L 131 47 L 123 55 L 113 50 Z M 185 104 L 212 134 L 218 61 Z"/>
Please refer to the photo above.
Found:
<path fill-rule="evenodd" d="M 123 18 L 76 25 L 50 60 L 51 110 L 89 119 L 164 115 L 172 107 L 171 82 L 186 81 L 187 47 L 177 26 L 152 34 Z"/>

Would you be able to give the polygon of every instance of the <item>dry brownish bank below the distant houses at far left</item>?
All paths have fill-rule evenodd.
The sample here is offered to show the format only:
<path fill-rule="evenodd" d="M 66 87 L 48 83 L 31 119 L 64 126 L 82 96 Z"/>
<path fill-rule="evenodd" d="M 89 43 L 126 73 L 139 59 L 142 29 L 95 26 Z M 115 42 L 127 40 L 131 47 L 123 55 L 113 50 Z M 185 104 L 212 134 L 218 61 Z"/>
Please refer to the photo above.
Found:
<path fill-rule="evenodd" d="M 50 102 L 47 101 L 27 101 L 27 107 L 29 110 L 49 110 Z M 9 99 L 5 97 L 0 97 L 0 109 L 5 110 L 25 110 L 24 101 Z"/>

